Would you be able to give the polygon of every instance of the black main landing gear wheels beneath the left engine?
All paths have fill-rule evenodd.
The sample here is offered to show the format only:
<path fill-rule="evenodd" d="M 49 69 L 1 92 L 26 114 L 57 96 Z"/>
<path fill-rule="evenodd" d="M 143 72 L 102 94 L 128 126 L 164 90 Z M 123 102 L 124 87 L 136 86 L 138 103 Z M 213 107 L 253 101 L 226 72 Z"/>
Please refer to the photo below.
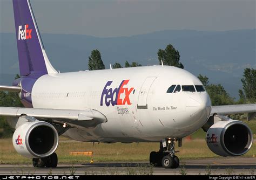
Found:
<path fill-rule="evenodd" d="M 36 168 L 56 168 L 58 164 L 58 156 L 56 153 L 45 158 L 33 158 L 33 167 Z"/>

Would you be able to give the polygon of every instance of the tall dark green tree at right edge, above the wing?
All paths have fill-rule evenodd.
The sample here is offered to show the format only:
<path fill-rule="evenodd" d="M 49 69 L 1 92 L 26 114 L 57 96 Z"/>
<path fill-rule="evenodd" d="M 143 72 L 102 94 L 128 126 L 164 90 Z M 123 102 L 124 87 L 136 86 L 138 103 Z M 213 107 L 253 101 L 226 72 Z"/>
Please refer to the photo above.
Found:
<path fill-rule="evenodd" d="M 256 70 L 253 68 L 245 68 L 242 81 L 242 88 L 246 101 L 250 103 L 256 102 Z M 240 92 L 239 92 L 240 94 Z"/>

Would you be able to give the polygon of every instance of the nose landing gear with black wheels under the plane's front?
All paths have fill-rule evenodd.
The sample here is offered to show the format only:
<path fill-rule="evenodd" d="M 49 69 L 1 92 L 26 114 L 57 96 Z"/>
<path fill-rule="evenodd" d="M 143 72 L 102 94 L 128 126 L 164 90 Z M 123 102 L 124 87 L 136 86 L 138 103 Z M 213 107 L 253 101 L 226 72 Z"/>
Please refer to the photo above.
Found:
<path fill-rule="evenodd" d="M 179 158 L 174 154 L 176 140 L 168 139 L 167 145 L 166 140 L 160 142 L 160 150 L 158 152 L 152 151 L 150 153 L 150 164 L 156 167 L 172 168 L 176 169 L 179 167 Z"/>

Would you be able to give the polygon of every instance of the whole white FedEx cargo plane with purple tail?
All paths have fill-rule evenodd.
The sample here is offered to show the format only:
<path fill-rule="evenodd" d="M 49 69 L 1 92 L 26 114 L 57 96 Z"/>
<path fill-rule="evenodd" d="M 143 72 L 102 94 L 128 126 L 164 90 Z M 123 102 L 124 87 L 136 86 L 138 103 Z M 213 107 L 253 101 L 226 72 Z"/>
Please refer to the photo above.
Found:
<path fill-rule="evenodd" d="M 227 114 L 255 116 L 256 104 L 211 106 L 200 80 L 172 66 L 58 73 L 46 56 L 29 0 L 13 0 L 21 78 L 2 91 L 17 92 L 25 108 L 0 107 L 17 152 L 34 167 L 56 167 L 59 135 L 83 142 L 159 142 L 150 163 L 177 168 L 176 142 L 203 128 L 220 156 L 250 150 L 252 131 Z"/>

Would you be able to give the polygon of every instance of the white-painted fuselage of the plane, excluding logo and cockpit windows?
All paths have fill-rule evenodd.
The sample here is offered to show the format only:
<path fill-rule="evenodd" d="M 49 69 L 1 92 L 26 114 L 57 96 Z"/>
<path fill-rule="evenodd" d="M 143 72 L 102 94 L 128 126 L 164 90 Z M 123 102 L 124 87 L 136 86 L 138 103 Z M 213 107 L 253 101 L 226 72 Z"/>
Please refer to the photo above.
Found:
<path fill-rule="evenodd" d="M 147 108 L 138 108 L 140 89 L 147 77 L 156 77 L 147 93 Z M 134 88 L 129 95 L 131 105 L 100 106 L 100 98 L 107 88 Z M 71 128 L 65 135 L 78 141 L 147 142 L 165 137 L 185 137 L 201 128 L 211 112 L 206 92 L 166 93 L 171 85 L 202 85 L 190 72 L 172 66 L 145 66 L 85 72 L 43 75 L 32 89 L 35 108 L 96 109 L 107 122 L 95 128 Z M 125 93 L 120 96 L 124 100 Z M 129 113 L 118 114 L 118 108 Z"/>

